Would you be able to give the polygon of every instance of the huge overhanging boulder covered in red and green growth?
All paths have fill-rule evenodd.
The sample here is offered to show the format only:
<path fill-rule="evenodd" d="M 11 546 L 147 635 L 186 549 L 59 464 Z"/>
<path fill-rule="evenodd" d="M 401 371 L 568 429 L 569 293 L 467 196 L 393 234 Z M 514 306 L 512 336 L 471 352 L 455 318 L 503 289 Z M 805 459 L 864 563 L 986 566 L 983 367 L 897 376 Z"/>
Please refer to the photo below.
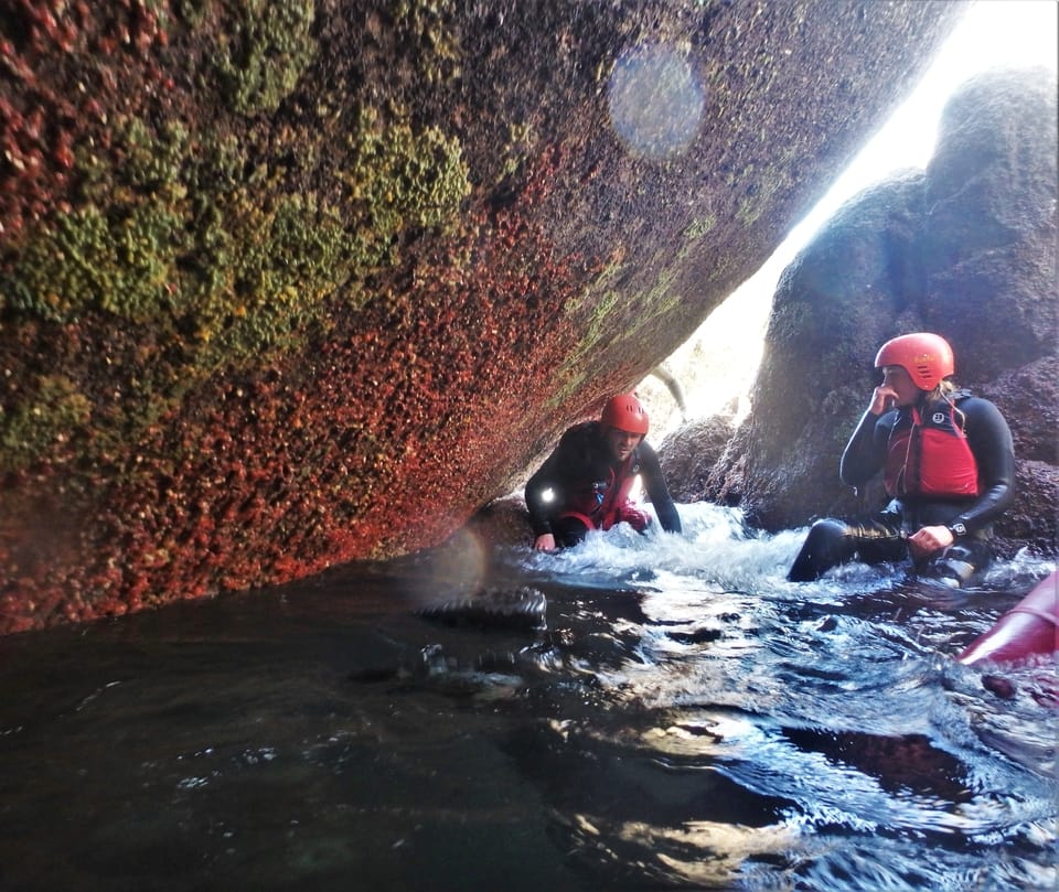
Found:
<path fill-rule="evenodd" d="M 0 632 L 437 542 L 762 262 L 961 10 L 6 3 Z"/>

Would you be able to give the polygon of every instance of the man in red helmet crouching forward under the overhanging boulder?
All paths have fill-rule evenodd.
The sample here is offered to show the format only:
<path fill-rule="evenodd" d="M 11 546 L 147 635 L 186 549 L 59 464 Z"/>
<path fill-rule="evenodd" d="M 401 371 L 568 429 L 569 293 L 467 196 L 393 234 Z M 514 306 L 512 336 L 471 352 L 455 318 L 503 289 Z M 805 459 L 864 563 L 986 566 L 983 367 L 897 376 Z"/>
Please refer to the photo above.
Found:
<path fill-rule="evenodd" d="M 662 528 L 681 531 L 655 451 L 643 439 L 650 422 L 632 394 L 612 397 L 599 421 L 569 428 L 526 483 L 533 547 L 553 551 L 581 541 L 590 529 L 628 523 L 642 533 L 651 516 L 632 499 L 637 475 Z"/>

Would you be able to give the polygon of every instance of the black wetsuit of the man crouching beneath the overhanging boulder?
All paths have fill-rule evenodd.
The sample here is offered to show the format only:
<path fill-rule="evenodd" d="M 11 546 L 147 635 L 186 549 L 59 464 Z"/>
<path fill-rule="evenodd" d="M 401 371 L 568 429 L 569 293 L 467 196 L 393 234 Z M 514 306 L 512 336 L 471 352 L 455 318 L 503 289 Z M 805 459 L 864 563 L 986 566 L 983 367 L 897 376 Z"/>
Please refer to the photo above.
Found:
<path fill-rule="evenodd" d="M 614 460 L 610 445 L 598 421 L 575 424 L 559 440 L 555 451 L 526 483 L 526 507 L 534 536 L 548 533 L 556 544 L 567 547 L 580 541 L 588 528 L 578 517 L 564 517 L 576 512 L 588 514 L 586 505 L 593 504 L 606 485 L 618 485 L 617 477 L 624 463 Z M 681 517 L 670 496 L 659 456 L 651 445 L 641 440 L 628 469 L 640 474 L 643 490 L 654 506 L 662 528 L 681 531 Z M 552 491 L 550 501 L 545 493 Z M 598 526 L 598 525 L 593 525 Z"/>

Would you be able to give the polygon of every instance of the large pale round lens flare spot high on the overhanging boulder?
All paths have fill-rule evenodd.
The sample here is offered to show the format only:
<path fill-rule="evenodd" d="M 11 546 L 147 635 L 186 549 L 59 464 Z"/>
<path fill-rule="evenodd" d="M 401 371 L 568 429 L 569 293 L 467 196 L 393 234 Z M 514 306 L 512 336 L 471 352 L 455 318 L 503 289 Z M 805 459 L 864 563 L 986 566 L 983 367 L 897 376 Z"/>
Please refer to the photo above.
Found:
<path fill-rule="evenodd" d="M 635 154 L 661 159 L 683 152 L 698 132 L 704 105 L 691 63 L 670 46 L 637 46 L 614 63 L 610 120 Z"/>

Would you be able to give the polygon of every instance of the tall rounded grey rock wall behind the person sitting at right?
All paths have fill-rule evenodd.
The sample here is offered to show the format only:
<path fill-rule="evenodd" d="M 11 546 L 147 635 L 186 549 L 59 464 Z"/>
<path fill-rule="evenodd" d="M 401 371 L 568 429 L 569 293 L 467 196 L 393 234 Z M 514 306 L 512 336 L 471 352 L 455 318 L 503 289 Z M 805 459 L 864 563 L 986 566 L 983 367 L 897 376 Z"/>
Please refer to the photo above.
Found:
<path fill-rule="evenodd" d="M 937 331 L 955 379 L 1013 430 L 1018 497 L 1003 544 L 1056 554 L 1056 96 L 1045 69 L 969 80 L 927 170 L 865 191 L 825 225 L 780 279 L 749 419 L 683 498 L 741 504 L 768 529 L 874 511 L 881 485 L 856 497 L 838 459 L 878 381 L 875 354 Z"/>

